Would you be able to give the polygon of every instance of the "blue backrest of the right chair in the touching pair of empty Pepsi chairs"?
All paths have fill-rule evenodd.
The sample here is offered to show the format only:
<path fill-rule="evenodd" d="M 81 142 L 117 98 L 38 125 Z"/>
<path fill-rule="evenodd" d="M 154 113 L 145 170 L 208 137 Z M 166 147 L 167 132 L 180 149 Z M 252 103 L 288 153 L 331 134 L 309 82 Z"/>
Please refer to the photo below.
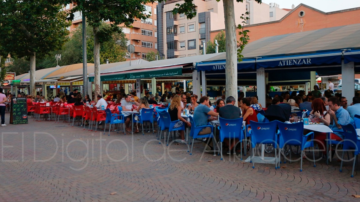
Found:
<path fill-rule="evenodd" d="M 278 121 L 279 134 L 279 146 L 284 144 L 301 145 L 304 123 L 283 123 Z"/>

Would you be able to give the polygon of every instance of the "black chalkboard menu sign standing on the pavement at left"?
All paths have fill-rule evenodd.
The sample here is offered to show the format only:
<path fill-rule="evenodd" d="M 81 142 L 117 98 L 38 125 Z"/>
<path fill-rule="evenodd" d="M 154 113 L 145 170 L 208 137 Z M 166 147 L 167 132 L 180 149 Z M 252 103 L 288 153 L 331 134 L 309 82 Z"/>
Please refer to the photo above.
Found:
<path fill-rule="evenodd" d="M 27 104 L 26 98 L 16 97 L 11 100 L 10 123 L 27 124 Z"/>

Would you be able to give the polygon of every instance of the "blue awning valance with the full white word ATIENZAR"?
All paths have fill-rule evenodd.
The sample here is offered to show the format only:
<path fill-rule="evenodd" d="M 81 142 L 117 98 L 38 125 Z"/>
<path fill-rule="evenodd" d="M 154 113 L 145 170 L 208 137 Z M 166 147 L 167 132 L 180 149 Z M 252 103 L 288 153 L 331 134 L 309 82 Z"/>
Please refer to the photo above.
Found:
<path fill-rule="evenodd" d="M 324 64 L 341 65 L 341 55 L 341 52 L 325 52 L 306 55 L 260 58 L 256 60 L 256 68 L 296 68 L 300 66 L 317 66 Z"/>

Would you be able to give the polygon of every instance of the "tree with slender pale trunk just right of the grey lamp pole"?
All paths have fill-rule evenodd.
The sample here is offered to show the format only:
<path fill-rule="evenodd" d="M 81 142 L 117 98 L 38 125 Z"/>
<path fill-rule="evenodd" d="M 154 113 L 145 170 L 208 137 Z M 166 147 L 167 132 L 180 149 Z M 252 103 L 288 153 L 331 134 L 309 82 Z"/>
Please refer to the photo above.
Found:
<path fill-rule="evenodd" d="M 146 19 L 144 5 L 153 3 L 154 0 L 78 0 L 71 10 L 69 20 L 72 20 L 75 12 L 81 11 L 86 17 L 87 23 L 93 27 L 94 33 L 94 84 L 95 97 L 101 95 L 100 88 L 100 43 L 111 40 L 113 33 L 122 33 L 119 25 L 130 27 L 136 19 Z M 65 4 L 73 3 L 66 0 Z M 110 27 L 100 27 L 104 20 L 110 22 Z"/>

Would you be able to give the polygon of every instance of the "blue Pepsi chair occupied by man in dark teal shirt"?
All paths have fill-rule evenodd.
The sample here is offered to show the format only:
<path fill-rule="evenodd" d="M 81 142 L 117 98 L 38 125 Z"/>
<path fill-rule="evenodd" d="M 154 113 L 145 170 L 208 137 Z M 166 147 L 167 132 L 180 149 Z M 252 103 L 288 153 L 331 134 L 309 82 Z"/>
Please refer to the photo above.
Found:
<path fill-rule="evenodd" d="M 223 159 L 222 157 L 222 142 L 224 142 L 225 138 L 228 138 L 231 143 L 231 139 L 235 139 L 238 138 L 240 141 L 240 147 L 242 146 L 242 140 L 244 139 L 244 130 L 245 128 L 243 127 L 243 118 L 238 118 L 238 119 L 224 119 L 224 118 L 219 118 L 220 121 L 220 127 L 218 127 L 219 129 L 219 138 L 220 138 L 220 153 L 221 153 L 221 160 Z M 230 147 L 229 147 L 229 152 L 230 151 Z M 241 157 L 240 160 L 243 159 L 243 151 L 241 150 Z"/>

